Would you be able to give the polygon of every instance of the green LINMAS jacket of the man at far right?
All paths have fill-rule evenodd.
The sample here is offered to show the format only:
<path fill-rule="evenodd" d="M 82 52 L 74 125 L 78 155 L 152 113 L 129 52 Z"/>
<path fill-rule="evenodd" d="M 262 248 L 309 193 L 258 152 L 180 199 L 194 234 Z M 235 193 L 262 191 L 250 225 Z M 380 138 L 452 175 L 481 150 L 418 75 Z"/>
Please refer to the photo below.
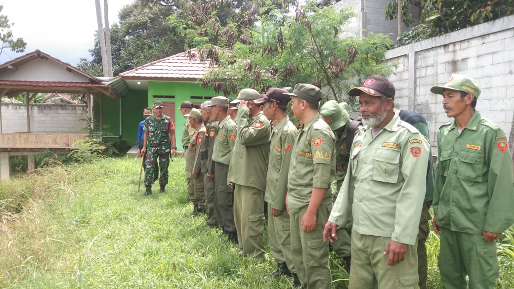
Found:
<path fill-rule="evenodd" d="M 512 225 L 512 157 L 500 127 L 475 111 L 460 135 L 455 121 L 440 127 L 437 146 L 437 225 L 471 234 Z"/>

